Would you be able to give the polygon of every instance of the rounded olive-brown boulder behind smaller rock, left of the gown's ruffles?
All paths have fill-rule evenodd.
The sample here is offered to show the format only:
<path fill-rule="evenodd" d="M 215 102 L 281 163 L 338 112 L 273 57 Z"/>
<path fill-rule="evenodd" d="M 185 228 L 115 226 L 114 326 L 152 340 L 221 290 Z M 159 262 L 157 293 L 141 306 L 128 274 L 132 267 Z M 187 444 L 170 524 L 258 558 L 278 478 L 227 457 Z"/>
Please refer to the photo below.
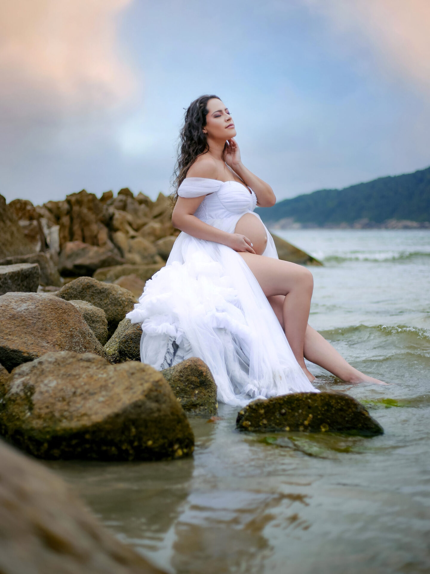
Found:
<path fill-rule="evenodd" d="M 126 314 L 134 309 L 136 297 L 119 285 L 102 283 L 92 277 L 79 277 L 67 285 L 64 285 L 55 293 L 66 301 L 88 301 L 96 307 L 100 307 L 106 314 L 108 333 L 111 337 L 118 323 Z"/>

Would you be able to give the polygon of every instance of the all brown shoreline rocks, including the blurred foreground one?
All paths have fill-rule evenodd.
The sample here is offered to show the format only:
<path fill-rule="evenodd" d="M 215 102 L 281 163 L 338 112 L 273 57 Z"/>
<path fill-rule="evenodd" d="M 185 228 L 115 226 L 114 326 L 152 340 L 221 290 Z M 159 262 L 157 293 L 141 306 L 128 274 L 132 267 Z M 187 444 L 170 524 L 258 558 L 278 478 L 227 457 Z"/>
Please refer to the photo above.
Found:
<path fill-rule="evenodd" d="M 170 200 L 160 194 L 153 202 L 128 189 L 99 200 L 83 190 L 34 207 L 24 200 L 6 205 L 0 196 L 0 224 L 3 441 L 47 460 L 175 464 L 192 456 L 189 417 L 217 414 L 216 381 L 198 358 L 162 372 L 142 364 L 142 329 L 126 319 L 178 235 Z M 280 238 L 275 242 L 280 258 L 320 264 Z M 348 395 L 313 395 L 255 401 L 239 413 L 237 429 L 383 432 Z M 336 409 L 347 417 L 335 416 Z M 0 482 L 6 484 L 0 492 L 0 570 L 24 572 L 36 564 L 46 572 L 158 572 L 112 542 L 55 475 L 2 441 L 0 451 Z M 14 502 L 16 488 L 26 489 L 26 502 Z M 47 489 L 53 492 L 49 502 Z M 68 527 L 61 530 L 56 521 L 49 526 L 46 512 L 60 515 Z M 20 544 L 25 553 L 18 556 Z"/>

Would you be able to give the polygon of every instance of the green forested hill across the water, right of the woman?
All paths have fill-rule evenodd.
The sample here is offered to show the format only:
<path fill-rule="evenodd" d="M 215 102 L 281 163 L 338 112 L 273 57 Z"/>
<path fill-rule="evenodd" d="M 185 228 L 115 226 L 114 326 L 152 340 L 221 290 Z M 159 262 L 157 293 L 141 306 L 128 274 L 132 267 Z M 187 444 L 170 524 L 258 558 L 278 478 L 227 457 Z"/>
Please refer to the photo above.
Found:
<path fill-rule="evenodd" d="M 265 223 L 284 218 L 316 226 L 351 224 L 364 218 L 374 223 L 386 219 L 430 222 L 430 167 L 345 189 L 320 189 L 256 211 Z"/>

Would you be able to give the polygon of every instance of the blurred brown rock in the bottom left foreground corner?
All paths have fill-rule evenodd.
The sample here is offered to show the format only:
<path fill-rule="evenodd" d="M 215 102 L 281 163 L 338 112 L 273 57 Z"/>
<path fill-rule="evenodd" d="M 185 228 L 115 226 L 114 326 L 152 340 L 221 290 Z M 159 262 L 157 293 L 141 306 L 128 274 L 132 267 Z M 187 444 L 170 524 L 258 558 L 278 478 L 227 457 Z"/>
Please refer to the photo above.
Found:
<path fill-rule="evenodd" d="M 100 525 L 53 472 L 0 441 L 0 571 L 161 574 Z"/>

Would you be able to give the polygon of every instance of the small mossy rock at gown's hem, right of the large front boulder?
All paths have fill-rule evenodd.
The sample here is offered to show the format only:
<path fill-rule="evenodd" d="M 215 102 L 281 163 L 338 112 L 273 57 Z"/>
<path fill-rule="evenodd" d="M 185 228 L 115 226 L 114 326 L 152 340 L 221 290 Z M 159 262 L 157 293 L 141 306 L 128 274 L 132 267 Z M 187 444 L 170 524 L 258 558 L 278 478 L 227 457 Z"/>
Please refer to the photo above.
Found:
<path fill-rule="evenodd" d="M 208 365 L 201 359 L 191 357 L 161 373 L 187 413 L 216 414 L 217 386 Z"/>

